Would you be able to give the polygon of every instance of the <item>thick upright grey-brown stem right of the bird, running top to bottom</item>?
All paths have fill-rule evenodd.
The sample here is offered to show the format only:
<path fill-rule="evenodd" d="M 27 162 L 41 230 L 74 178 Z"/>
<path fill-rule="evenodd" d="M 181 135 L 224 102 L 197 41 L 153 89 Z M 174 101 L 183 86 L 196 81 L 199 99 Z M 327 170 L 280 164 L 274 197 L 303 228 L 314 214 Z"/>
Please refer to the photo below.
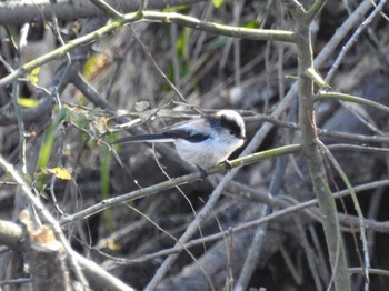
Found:
<path fill-rule="evenodd" d="M 348 277 L 345 244 L 339 230 L 339 219 L 335 199 L 329 194 L 328 179 L 323 159 L 318 147 L 318 133 L 313 116 L 313 82 L 307 72 L 313 68 L 310 18 L 296 0 L 283 0 L 296 21 L 296 46 L 298 51 L 298 90 L 299 122 L 301 128 L 301 147 L 309 169 L 313 191 L 319 200 L 325 237 L 331 264 L 336 290 L 351 290 Z"/>

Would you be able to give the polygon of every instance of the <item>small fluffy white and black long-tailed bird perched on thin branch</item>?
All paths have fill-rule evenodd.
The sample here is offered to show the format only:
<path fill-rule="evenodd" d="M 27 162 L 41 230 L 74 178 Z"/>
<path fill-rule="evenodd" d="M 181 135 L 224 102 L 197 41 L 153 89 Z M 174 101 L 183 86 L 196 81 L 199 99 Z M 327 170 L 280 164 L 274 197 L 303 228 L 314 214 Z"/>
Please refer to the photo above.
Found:
<path fill-rule="evenodd" d="M 179 155 L 187 162 L 207 169 L 227 158 L 246 140 L 245 121 L 233 110 L 178 123 L 161 133 L 118 139 L 123 142 L 173 142 Z"/>

